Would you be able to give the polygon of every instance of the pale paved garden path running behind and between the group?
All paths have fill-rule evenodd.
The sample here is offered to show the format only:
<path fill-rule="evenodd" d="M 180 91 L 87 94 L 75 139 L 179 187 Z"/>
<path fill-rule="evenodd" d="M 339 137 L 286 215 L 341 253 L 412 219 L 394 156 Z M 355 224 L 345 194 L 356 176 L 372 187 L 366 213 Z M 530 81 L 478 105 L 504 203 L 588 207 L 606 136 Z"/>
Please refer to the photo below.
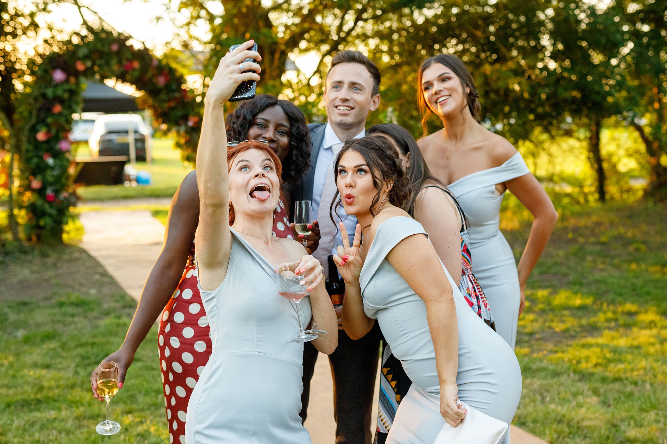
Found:
<path fill-rule="evenodd" d="M 119 204 L 88 202 L 87 206 L 137 205 L 131 200 L 117 202 Z M 150 203 L 157 202 L 151 200 Z M 138 301 L 143 284 L 162 248 L 164 226 L 151 216 L 149 210 L 83 211 L 81 224 L 85 229 L 81 247 L 104 266 L 127 294 Z M 336 424 L 333 422 L 332 386 L 329 360 L 320 353 L 311 381 L 308 419 L 305 421 L 313 444 L 333 444 Z M 377 411 L 377 388 L 374 405 Z M 512 444 L 546 444 L 546 441 L 512 426 Z"/>

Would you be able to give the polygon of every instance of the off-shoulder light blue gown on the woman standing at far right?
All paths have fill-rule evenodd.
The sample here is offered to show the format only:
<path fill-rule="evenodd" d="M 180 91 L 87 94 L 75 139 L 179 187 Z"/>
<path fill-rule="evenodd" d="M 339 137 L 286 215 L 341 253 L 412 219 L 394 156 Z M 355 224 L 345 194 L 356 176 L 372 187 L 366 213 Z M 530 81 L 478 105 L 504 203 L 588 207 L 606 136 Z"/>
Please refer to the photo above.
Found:
<path fill-rule="evenodd" d="M 504 164 L 468 174 L 447 186 L 468 219 L 470 252 L 475 274 L 496 321 L 496 332 L 514 349 L 521 291 L 510 244 L 500 232 L 500 204 L 496 184 L 528 174 L 520 153 Z"/>

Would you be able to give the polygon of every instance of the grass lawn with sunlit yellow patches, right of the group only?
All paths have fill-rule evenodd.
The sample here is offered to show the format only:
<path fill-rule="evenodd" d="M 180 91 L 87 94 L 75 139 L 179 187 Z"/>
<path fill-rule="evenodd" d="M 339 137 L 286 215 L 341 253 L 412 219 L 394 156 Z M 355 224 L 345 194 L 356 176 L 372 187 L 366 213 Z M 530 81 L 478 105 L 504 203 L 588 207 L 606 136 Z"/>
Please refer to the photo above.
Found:
<path fill-rule="evenodd" d="M 516 425 L 551 443 L 667 443 L 666 216 L 562 211 L 519 321 Z M 506 237 L 518 258 L 528 226 L 516 225 Z"/>

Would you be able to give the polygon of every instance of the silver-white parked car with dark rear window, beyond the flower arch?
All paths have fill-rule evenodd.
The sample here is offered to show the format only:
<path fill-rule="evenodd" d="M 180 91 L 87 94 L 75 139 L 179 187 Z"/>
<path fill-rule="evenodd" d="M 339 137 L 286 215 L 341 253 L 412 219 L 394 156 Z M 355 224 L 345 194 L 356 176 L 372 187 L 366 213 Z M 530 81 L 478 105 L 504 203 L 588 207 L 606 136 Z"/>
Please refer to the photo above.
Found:
<path fill-rule="evenodd" d="M 91 156 L 129 156 L 129 127 L 134 131 L 137 160 L 146 160 L 145 137 L 151 130 L 138 114 L 104 114 L 95 120 L 88 139 Z"/>

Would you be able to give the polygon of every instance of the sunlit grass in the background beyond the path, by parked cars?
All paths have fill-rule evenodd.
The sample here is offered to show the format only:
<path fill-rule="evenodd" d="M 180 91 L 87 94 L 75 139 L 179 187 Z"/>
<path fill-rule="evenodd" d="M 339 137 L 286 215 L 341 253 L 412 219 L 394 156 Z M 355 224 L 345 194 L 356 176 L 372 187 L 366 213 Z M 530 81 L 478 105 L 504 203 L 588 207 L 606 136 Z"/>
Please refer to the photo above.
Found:
<path fill-rule="evenodd" d="M 88 155 L 88 145 L 81 144 L 77 156 Z M 184 166 L 181 152 L 173 148 L 171 138 L 153 140 L 153 162 L 137 162 L 137 170 L 146 170 L 151 174 L 150 185 L 136 187 L 125 185 L 93 185 L 77 188 L 77 194 L 84 200 L 112 200 L 146 197 L 171 197 L 176 192 L 181 180 L 192 170 L 192 166 Z"/>

